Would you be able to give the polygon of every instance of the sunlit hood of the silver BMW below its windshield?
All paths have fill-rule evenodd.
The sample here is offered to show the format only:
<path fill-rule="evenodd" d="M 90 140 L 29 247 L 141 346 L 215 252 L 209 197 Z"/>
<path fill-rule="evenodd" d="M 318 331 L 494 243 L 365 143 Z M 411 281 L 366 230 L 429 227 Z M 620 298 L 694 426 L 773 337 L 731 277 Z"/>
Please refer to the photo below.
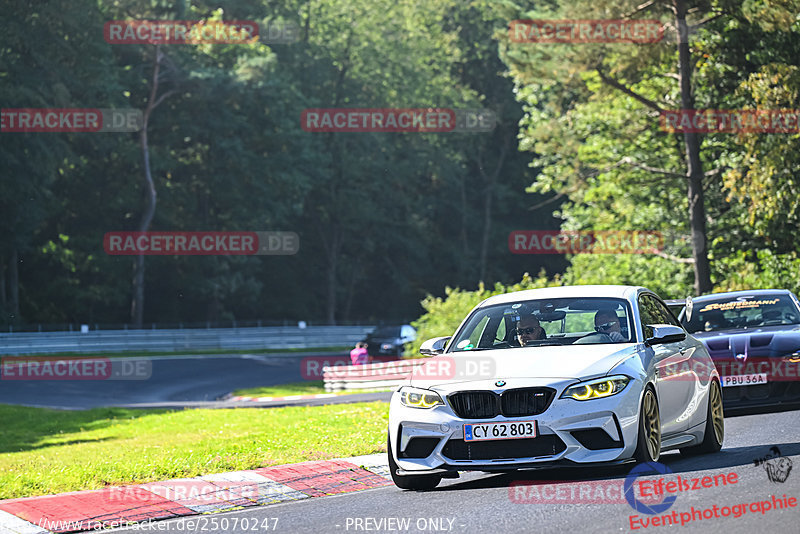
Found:
<path fill-rule="evenodd" d="M 636 352 L 636 344 L 626 343 L 447 353 L 430 358 L 409 381 L 413 386 L 432 388 L 508 378 L 581 380 L 608 374 Z M 454 365 L 442 365 L 448 362 Z"/>

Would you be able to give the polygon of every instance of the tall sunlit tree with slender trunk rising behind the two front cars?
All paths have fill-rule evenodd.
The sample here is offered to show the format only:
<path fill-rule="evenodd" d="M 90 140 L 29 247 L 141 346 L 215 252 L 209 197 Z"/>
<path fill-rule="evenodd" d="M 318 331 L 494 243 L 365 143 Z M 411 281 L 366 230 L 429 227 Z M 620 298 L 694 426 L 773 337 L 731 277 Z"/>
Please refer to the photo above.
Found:
<path fill-rule="evenodd" d="M 786 6 L 779 4 L 773 3 L 773 13 L 785 15 Z M 741 92 L 739 95 L 726 93 L 724 87 L 735 88 L 749 72 L 758 68 L 752 63 L 752 57 L 732 58 L 726 53 L 726 49 L 738 46 L 737 33 L 761 33 L 748 22 L 743 13 L 746 9 L 747 5 L 742 7 L 737 2 L 694 2 L 690 5 L 683 0 L 641 5 L 623 1 L 558 3 L 558 7 L 548 13 L 524 13 L 518 9 L 509 12 L 509 19 L 659 18 L 665 21 L 667 36 L 672 35 L 672 38 L 659 45 L 536 46 L 507 42 L 502 52 L 520 85 L 520 98 L 528 103 L 531 114 L 523 130 L 522 146 L 535 149 L 538 152 L 536 162 L 543 167 L 532 190 L 560 190 L 569 196 L 573 204 L 566 205 L 561 212 L 568 229 L 577 229 L 576 224 L 586 223 L 590 228 L 603 229 L 644 222 L 654 225 L 653 229 L 661 227 L 671 230 L 670 233 L 676 230 L 680 233 L 680 226 L 688 226 L 690 239 L 683 242 L 690 246 L 689 261 L 694 270 L 694 291 L 698 294 L 712 287 L 708 258 L 713 252 L 708 244 L 713 240 L 708 239 L 706 225 L 709 221 L 720 221 L 721 217 L 730 219 L 731 215 L 741 213 L 740 206 L 725 200 L 718 180 L 712 178 L 733 172 L 729 165 L 741 150 L 729 134 L 661 132 L 658 115 L 665 109 L 741 106 Z M 689 13 L 691 21 L 687 20 Z M 785 20 L 787 17 L 778 18 Z M 722 62 L 716 61 L 718 56 Z M 728 62 L 731 59 L 735 61 Z M 717 89 L 720 85 L 722 89 Z M 598 113 L 599 110 L 602 112 Z M 614 120 L 619 110 L 627 112 L 624 121 Z M 609 128 L 611 123 L 614 127 Z M 649 177 L 658 185 L 644 185 L 646 194 L 638 195 L 634 189 L 643 187 L 640 176 Z M 684 181 L 688 217 L 676 227 L 668 224 L 673 217 L 665 218 L 663 213 L 653 212 L 652 206 L 646 205 L 648 199 L 672 198 L 672 194 L 665 193 Z M 625 194 L 612 197 L 605 184 L 614 184 Z M 600 206 L 577 210 L 579 204 L 592 205 L 595 191 L 605 198 L 613 198 L 614 205 L 604 206 L 610 211 L 602 213 L 598 209 Z M 710 205 L 706 198 L 709 194 L 713 202 Z M 643 200 L 639 206 L 645 213 L 658 216 L 634 216 L 630 211 L 634 199 Z M 612 215 L 610 220 L 609 214 Z M 743 222 L 737 221 L 738 224 Z M 598 223 L 606 226 L 598 227 Z M 713 233 L 720 235 L 727 230 L 714 228 Z M 661 258 L 687 261 L 674 253 L 661 254 Z M 656 265 L 656 258 L 652 260 Z M 604 261 L 616 260 L 591 260 L 593 263 Z"/>

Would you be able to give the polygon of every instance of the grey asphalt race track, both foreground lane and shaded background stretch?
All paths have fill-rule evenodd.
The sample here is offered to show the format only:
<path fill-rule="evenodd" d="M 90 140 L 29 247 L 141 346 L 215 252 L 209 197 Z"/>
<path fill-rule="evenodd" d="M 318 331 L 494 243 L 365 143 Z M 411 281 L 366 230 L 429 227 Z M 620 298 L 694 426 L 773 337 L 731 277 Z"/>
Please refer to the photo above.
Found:
<path fill-rule="evenodd" d="M 147 380 L 3 380 L 0 403 L 69 409 L 108 405 L 227 407 L 215 399 L 234 389 L 301 381 L 301 359 L 298 355 L 153 358 L 152 376 Z M 381 393 L 364 398 L 350 396 L 349 400 L 372 400 L 375 395 L 388 397 Z M 720 453 L 694 458 L 684 458 L 677 452 L 665 454 L 662 463 L 673 472 L 666 475 L 667 481 L 678 475 L 686 479 L 736 473 L 738 478 L 726 486 L 682 491 L 670 508 L 657 515 L 635 511 L 619 495 L 611 499 L 609 494 L 606 500 L 610 502 L 575 502 L 582 500 L 578 491 L 573 493 L 578 495 L 573 500 L 570 492 L 585 487 L 582 481 L 618 487 L 632 468 L 628 465 L 513 474 L 464 473 L 460 479 L 442 481 L 430 492 L 402 491 L 391 485 L 108 532 L 666 532 L 677 527 L 644 527 L 644 521 L 673 512 L 678 522 L 687 518 L 681 527 L 686 532 L 798 532 L 800 502 L 763 514 L 751 511 L 750 504 L 773 503 L 773 496 L 782 499 L 784 495 L 800 501 L 799 422 L 800 410 L 727 417 L 725 446 Z M 791 463 L 784 482 L 771 481 L 764 466 L 755 465 L 755 460 L 768 455 L 773 446 Z M 784 470 L 789 465 L 786 461 Z M 548 502 L 542 502 L 544 490 L 541 494 L 531 492 L 542 486 L 529 481 L 548 483 Z M 714 517 L 711 509 L 715 505 L 719 514 L 725 507 L 733 510 L 734 506 L 747 505 L 748 509 L 741 514 L 739 506 L 740 517 L 734 517 L 733 512 L 728 517 Z M 698 514 L 709 510 L 710 517 L 697 519 L 695 515 L 689 520 L 692 509 Z M 198 521 L 200 518 L 205 521 Z"/>

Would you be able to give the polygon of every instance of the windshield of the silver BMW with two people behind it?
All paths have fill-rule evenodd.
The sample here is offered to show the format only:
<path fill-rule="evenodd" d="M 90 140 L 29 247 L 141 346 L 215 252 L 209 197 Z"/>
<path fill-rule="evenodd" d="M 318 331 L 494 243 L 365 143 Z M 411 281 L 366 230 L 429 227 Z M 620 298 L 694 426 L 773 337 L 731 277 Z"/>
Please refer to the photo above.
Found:
<path fill-rule="evenodd" d="M 476 310 L 452 352 L 630 342 L 627 301 L 610 298 L 527 300 Z"/>

